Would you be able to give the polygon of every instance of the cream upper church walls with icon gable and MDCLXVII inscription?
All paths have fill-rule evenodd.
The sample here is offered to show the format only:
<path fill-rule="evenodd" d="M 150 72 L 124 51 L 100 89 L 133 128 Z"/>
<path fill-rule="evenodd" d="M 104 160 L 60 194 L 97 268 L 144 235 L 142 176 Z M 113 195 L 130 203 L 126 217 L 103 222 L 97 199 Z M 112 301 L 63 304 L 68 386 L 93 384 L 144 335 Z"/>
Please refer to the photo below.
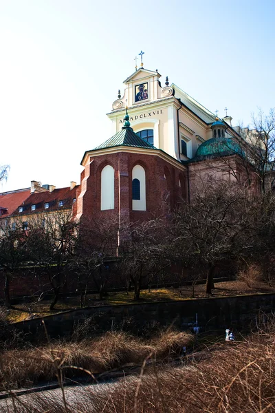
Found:
<path fill-rule="evenodd" d="M 212 138 L 211 124 L 216 115 L 176 85 L 161 86 L 158 72 L 140 68 L 129 78 L 123 96 L 113 102 L 113 110 L 107 114 L 114 124 L 114 134 L 123 126 L 125 107 L 129 107 L 131 127 L 135 132 L 153 129 L 153 145 L 177 160 L 193 158 L 199 145 Z M 140 89 L 142 87 L 142 89 Z M 142 92 L 142 100 L 140 98 Z M 225 118 L 225 122 L 228 118 Z M 231 118 L 230 118 L 231 123 Z M 236 132 L 228 124 L 229 136 Z M 182 153 L 181 140 L 187 144 Z"/>

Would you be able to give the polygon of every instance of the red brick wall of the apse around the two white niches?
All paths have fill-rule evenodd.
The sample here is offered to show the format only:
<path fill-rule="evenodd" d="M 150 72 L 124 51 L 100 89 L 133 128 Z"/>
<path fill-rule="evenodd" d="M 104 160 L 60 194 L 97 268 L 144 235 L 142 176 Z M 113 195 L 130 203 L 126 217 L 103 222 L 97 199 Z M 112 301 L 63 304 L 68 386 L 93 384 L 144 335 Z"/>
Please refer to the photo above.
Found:
<path fill-rule="evenodd" d="M 101 171 L 106 165 L 115 169 L 115 209 L 100 211 Z M 146 173 L 146 211 L 132 210 L 131 182 L 135 165 L 144 167 Z M 179 198 L 186 198 L 185 182 L 186 177 L 181 169 L 173 167 L 159 156 L 127 152 L 95 156 L 81 176 L 77 200 L 78 218 L 118 216 L 120 202 L 124 220 L 146 220 L 152 213 L 165 213 L 167 208 L 175 207 Z"/>

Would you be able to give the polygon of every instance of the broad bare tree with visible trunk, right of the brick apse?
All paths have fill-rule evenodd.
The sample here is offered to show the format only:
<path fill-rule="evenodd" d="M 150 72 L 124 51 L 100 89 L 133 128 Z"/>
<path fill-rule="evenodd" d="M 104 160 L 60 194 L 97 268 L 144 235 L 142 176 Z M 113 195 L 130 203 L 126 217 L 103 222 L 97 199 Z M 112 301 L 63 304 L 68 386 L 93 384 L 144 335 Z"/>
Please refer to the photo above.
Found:
<path fill-rule="evenodd" d="M 247 189 L 236 184 L 206 182 L 190 204 L 173 214 L 173 251 L 186 266 L 207 266 L 206 293 L 214 288 L 217 263 L 252 251 L 255 202 Z"/>

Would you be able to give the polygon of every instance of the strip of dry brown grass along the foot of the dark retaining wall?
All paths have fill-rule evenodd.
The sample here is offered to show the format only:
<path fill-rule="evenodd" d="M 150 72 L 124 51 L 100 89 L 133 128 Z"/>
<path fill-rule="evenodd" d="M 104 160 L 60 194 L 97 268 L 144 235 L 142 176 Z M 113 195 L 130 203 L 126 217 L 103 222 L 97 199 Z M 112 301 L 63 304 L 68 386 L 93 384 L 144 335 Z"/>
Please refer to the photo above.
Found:
<path fill-rule="evenodd" d="M 153 341 L 142 341 L 125 332 L 107 332 L 98 339 L 80 343 L 54 343 L 26 350 L 8 350 L 0 357 L 0 389 L 30 386 L 39 381 L 77 374 L 101 373 L 129 363 L 142 364 L 151 354 L 157 360 L 179 354 L 182 346 L 192 343 L 192 335 L 184 332 L 162 332 Z M 76 372 L 76 366 L 81 370 Z"/>

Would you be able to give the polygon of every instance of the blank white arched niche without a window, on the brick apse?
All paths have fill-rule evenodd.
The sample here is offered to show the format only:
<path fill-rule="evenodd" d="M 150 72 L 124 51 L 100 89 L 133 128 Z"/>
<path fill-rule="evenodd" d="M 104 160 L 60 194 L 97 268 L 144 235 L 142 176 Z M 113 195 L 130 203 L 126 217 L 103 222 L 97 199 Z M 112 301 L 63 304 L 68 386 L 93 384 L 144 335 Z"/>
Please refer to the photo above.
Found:
<path fill-rule="evenodd" d="M 101 211 L 115 208 L 115 170 L 106 165 L 101 171 Z"/>

